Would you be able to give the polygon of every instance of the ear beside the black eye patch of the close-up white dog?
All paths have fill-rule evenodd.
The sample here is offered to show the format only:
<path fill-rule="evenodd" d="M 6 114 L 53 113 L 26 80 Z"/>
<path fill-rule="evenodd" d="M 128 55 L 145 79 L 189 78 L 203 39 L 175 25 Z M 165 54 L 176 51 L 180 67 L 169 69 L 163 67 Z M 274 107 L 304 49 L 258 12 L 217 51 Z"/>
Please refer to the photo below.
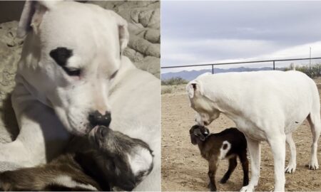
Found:
<path fill-rule="evenodd" d="M 17 36 L 23 38 L 31 29 L 37 32 L 42 17 L 46 11 L 52 9 L 57 2 L 58 1 L 26 1 L 20 17 Z"/>

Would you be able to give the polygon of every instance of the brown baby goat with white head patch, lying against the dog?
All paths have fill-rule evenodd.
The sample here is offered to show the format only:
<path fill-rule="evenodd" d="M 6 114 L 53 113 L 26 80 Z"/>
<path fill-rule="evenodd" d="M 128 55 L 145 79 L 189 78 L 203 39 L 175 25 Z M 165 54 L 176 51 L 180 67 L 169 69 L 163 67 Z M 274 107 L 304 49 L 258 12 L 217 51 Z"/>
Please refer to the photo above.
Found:
<path fill-rule="evenodd" d="M 86 144 L 88 151 L 0 173 L 0 191 L 131 191 L 153 169 L 152 151 L 141 139 L 96 126 Z"/>

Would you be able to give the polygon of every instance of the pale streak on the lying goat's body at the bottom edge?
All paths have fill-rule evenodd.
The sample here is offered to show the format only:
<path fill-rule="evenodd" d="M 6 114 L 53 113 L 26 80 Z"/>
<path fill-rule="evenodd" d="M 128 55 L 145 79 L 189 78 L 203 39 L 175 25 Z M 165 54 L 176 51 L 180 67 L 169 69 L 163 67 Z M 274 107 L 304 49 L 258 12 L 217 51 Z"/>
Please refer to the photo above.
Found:
<path fill-rule="evenodd" d="M 68 188 L 78 187 L 86 189 L 88 191 L 98 191 L 98 189 L 94 186 L 91 186 L 89 184 L 77 183 L 76 181 L 73 181 L 73 179 L 70 176 L 57 176 L 56 178 L 54 178 L 54 181 L 52 181 L 52 183 Z"/>

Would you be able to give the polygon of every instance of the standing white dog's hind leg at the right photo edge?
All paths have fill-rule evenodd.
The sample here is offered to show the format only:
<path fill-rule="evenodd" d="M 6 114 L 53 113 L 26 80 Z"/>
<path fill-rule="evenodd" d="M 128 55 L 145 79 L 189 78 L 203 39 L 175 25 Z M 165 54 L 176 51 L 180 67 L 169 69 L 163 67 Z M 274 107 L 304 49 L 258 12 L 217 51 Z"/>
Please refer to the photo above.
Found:
<path fill-rule="evenodd" d="M 319 110 L 319 109 L 318 109 Z M 319 164 L 317 162 L 317 141 L 321 133 L 321 120 L 320 112 L 310 113 L 307 116 L 307 121 L 310 124 L 312 132 L 312 145 L 311 145 L 311 160 L 309 163 L 309 169 L 319 169 Z"/>

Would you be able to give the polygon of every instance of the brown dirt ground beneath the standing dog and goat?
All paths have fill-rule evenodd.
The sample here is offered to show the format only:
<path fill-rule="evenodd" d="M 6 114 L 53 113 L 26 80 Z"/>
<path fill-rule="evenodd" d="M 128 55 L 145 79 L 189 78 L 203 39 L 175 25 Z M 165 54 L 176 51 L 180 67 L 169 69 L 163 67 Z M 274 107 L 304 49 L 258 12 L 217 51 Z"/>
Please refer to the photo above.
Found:
<path fill-rule="evenodd" d="M 316 80 L 321 83 L 321 79 Z M 189 107 L 185 85 L 175 86 L 171 93 L 162 95 L 162 190 L 163 191 L 208 191 L 208 164 L 202 159 L 197 146 L 190 143 L 189 129 L 194 124 L 195 112 Z M 321 84 L 318 85 L 321 90 Z M 220 115 L 208 127 L 210 132 L 220 132 L 235 124 Z M 321 169 L 311 171 L 305 167 L 310 159 L 312 134 L 307 121 L 294 133 L 297 146 L 297 169 L 294 174 L 285 174 L 287 191 L 321 191 Z M 260 181 L 255 191 L 271 191 L 274 186 L 273 159 L 270 146 L 261 144 Z M 321 139 L 317 150 L 321 162 Z M 286 163 L 290 159 L 287 147 Z M 239 163 L 239 160 L 238 160 Z M 221 161 L 216 174 L 218 191 L 239 191 L 243 171 L 240 163 L 225 184 L 218 181 L 228 169 L 228 161 Z"/>

